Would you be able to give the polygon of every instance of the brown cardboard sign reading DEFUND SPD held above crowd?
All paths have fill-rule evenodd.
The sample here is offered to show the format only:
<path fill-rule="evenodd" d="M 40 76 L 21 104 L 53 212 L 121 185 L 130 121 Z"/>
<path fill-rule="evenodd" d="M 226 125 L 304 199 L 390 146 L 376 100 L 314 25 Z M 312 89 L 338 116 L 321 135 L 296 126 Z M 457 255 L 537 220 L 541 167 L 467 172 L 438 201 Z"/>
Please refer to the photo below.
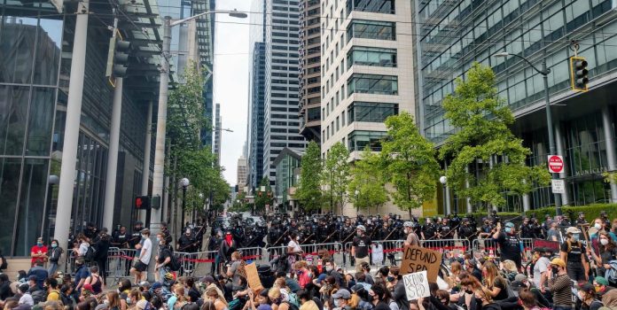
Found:
<path fill-rule="evenodd" d="M 441 253 L 419 246 L 405 246 L 402 250 L 402 275 L 426 270 L 428 281 L 436 282 L 441 266 Z"/>

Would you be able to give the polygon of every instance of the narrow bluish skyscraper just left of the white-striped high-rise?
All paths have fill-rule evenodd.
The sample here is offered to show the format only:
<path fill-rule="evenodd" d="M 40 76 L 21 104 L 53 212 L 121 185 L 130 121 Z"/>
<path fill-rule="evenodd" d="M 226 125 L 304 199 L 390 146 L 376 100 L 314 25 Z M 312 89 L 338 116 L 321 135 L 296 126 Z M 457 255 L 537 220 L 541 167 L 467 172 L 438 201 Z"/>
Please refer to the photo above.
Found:
<path fill-rule="evenodd" d="M 254 0 L 251 5 L 250 60 L 249 60 L 249 105 L 246 133 L 247 181 L 256 187 L 263 174 L 263 108 L 266 83 L 266 3 Z"/>

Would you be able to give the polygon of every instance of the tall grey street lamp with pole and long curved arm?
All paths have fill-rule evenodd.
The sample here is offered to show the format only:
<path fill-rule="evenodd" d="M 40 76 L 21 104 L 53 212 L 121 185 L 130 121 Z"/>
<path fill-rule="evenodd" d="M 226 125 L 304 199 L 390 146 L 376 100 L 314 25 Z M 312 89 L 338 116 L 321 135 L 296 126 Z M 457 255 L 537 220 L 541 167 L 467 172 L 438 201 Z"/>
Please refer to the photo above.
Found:
<path fill-rule="evenodd" d="M 169 88 L 169 55 L 171 45 L 171 27 L 183 24 L 191 19 L 198 19 L 207 14 L 227 13 L 230 17 L 246 19 L 246 13 L 224 10 L 215 10 L 199 13 L 186 19 L 172 20 L 166 16 L 163 20 L 163 49 L 161 56 L 163 61 L 160 70 L 159 85 L 159 112 L 156 122 L 156 144 L 154 147 L 154 172 L 152 174 L 152 196 L 163 196 L 163 172 L 165 170 L 165 134 L 167 131 L 168 88 Z M 160 219 L 160 208 L 152 209 L 151 219 Z M 183 213 L 184 217 L 184 213 Z M 183 223 L 184 225 L 184 223 Z"/>

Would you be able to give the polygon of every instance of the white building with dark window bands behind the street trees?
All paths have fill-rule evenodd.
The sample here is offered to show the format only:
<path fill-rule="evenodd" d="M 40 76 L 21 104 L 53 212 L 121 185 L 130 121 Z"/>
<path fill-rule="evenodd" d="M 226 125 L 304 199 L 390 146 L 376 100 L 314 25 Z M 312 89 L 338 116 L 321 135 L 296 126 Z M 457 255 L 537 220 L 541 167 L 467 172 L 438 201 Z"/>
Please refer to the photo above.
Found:
<path fill-rule="evenodd" d="M 410 1 L 322 1 L 322 152 L 380 151 L 384 120 L 415 113 Z"/>

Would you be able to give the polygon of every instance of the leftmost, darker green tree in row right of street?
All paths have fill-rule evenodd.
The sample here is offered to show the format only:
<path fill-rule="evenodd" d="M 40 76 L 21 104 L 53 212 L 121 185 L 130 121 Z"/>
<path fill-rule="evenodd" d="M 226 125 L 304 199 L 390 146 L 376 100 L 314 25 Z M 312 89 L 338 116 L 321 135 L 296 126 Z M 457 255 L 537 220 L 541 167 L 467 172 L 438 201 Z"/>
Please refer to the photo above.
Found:
<path fill-rule="evenodd" d="M 322 160 L 319 145 L 311 141 L 301 159 L 300 182 L 294 195 L 305 211 L 319 210 L 324 203 L 321 178 L 318 173 L 320 171 L 322 171 Z"/>

